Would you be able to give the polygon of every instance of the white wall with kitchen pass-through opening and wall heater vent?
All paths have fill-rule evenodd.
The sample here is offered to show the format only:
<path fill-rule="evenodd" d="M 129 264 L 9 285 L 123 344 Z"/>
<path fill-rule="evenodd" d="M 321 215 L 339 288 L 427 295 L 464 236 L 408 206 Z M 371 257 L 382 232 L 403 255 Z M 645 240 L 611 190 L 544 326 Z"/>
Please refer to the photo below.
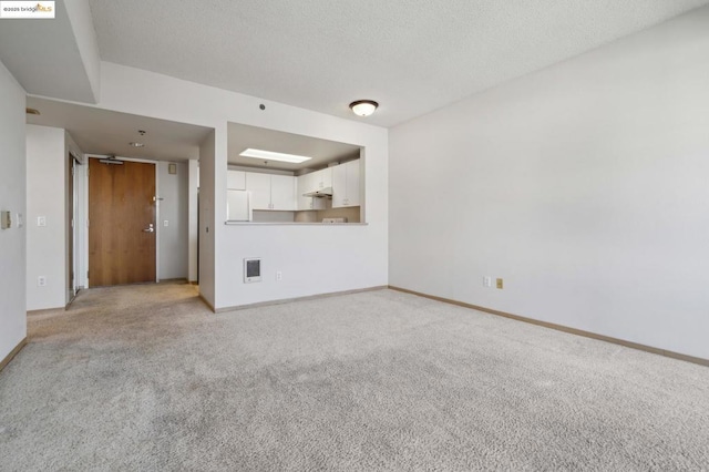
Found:
<path fill-rule="evenodd" d="M 100 107 L 215 129 L 214 163 L 203 157 L 199 163 L 201 212 L 208 208 L 212 215 L 210 222 L 201 219 L 199 236 L 205 236 L 207 225 L 214 230 L 216 308 L 388 283 L 386 129 L 106 62 L 102 63 L 101 86 Z M 261 103 L 266 105 L 264 111 L 259 109 Z M 224 225 L 227 122 L 364 146 L 368 225 L 338 228 Z M 263 257 L 268 274 L 260 284 L 243 284 L 242 260 L 254 255 Z M 201 270 L 205 264 L 203 256 Z M 275 280 L 276 269 L 282 270 L 282 281 Z M 204 295 L 209 280 L 204 273 L 199 276 Z"/>

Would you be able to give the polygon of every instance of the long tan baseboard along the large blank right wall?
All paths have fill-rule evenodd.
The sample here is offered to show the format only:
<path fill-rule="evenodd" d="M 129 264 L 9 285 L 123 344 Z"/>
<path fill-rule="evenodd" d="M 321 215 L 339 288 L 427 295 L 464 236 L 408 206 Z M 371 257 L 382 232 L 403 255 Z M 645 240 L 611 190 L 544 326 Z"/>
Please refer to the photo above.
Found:
<path fill-rule="evenodd" d="M 682 355 L 682 353 L 679 353 L 679 352 L 668 351 L 666 349 L 654 348 L 651 346 L 640 345 L 640 343 L 637 343 L 637 342 L 630 342 L 630 341 L 626 341 L 624 339 L 613 338 L 610 336 L 598 335 L 598 334 L 592 332 L 592 331 L 584 331 L 583 329 L 569 328 L 567 326 L 557 325 L 557 324 L 554 324 L 554 322 L 541 321 L 541 320 L 534 319 L 534 318 L 527 318 L 527 317 L 520 316 L 520 315 L 513 315 L 513 314 L 508 314 L 508 312 L 505 312 L 505 311 L 494 310 L 492 308 L 481 307 L 481 306 L 477 306 L 477 305 L 465 304 L 463 301 L 452 300 L 450 298 L 443 298 L 443 297 L 436 297 L 436 296 L 433 296 L 433 295 L 422 294 L 420 291 L 409 290 L 409 289 L 401 288 L 401 287 L 394 287 L 392 285 L 390 285 L 389 288 L 391 288 L 392 290 L 402 291 L 404 294 L 418 295 L 419 297 L 430 298 L 431 300 L 443 301 L 445 304 L 456 305 L 456 306 L 463 307 L 463 308 L 471 308 L 471 309 L 474 309 L 474 310 L 477 310 L 477 311 L 484 311 L 484 312 L 490 314 L 490 315 L 496 315 L 496 316 L 501 316 L 501 317 L 504 317 L 504 318 L 510 318 L 510 319 L 514 319 L 514 320 L 517 320 L 517 321 L 523 321 L 523 322 L 528 322 L 531 325 L 541 326 L 541 327 L 544 327 L 544 328 L 555 329 L 557 331 L 568 332 L 571 335 L 583 336 L 585 338 L 597 339 L 599 341 L 605 341 L 605 342 L 612 342 L 614 345 L 624 346 L 626 348 L 637 349 L 637 350 L 651 352 L 651 353 L 659 355 L 659 356 L 669 357 L 669 358 L 672 358 L 672 359 L 684 360 L 686 362 L 692 362 L 692 363 L 698 363 L 700 366 L 709 367 L 709 359 L 702 359 L 700 357 L 687 356 L 687 355 Z"/>

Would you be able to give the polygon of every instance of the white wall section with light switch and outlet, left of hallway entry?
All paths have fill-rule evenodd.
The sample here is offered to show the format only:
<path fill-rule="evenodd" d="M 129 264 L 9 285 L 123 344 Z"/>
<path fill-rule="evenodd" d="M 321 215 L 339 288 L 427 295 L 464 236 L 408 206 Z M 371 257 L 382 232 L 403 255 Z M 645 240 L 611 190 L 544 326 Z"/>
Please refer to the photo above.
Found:
<path fill-rule="evenodd" d="M 27 309 L 66 304 L 64 130 L 27 125 Z M 38 226 L 43 216 L 47 226 Z M 38 286 L 38 277 L 47 286 Z"/>

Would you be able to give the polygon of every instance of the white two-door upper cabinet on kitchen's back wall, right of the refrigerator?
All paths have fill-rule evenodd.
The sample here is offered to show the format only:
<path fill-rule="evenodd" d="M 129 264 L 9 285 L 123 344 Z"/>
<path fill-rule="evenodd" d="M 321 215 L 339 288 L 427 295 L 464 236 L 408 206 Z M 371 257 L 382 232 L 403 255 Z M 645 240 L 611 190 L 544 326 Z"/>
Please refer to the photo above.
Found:
<path fill-rule="evenodd" d="M 253 209 L 296 209 L 296 177 L 291 175 L 247 172 L 246 189 L 251 192 Z"/>

